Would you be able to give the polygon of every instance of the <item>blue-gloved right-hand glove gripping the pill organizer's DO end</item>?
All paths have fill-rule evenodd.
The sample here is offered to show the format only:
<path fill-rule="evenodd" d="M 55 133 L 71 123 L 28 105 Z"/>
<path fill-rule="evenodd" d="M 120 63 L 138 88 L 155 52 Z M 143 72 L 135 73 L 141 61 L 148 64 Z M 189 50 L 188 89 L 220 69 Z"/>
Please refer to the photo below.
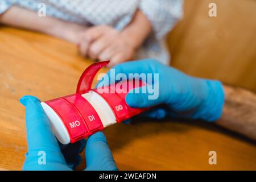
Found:
<path fill-rule="evenodd" d="M 143 115 L 152 118 L 163 118 L 166 115 L 172 117 L 183 117 L 191 119 L 204 119 L 205 121 L 216 121 L 221 117 L 224 105 L 224 91 L 219 81 L 205 80 L 185 75 L 175 68 L 168 67 L 159 61 L 146 59 L 130 61 L 118 64 L 115 67 L 115 75 L 125 73 L 159 73 L 159 79 L 153 80 L 152 85 L 159 84 L 159 97 L 156 100 L 149 100 L 150 93 L 139 93 L 133 90 L 126 96 L 126 102 L 131 107 L 151 107 L 164 104 L 163 107 L 156 107 Z M 109 84 L 117 81 L 108 72 L 97 85 L 106 84 L 107 77 Z"/>

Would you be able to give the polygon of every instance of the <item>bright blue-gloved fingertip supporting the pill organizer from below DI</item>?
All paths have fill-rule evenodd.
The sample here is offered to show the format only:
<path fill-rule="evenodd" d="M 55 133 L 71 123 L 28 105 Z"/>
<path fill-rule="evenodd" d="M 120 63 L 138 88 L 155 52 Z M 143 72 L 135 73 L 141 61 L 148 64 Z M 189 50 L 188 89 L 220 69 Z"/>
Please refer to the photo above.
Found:
<path fill-rule="evenodd" d="M 85 147 L 86 170 L 118 170 L 104 133 L 90 136 Z"/>

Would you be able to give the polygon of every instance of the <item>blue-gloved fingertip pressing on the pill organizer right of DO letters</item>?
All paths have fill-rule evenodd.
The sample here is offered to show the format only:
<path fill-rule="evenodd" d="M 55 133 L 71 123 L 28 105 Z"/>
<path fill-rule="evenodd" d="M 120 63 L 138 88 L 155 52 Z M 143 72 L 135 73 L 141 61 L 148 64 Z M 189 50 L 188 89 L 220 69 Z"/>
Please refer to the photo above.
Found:
<path fill-rule="evenodd" d="M 125 100 L 130 107 L 146 108 L 164 103 L 163 97 L 151 97 L 152 94 L 148 93 L 148 89 L 144 87 L 146 86 L 131 89 L 126 95 Z M 146 90 L 146 92 L 144 92 L 144 90 Z"/>

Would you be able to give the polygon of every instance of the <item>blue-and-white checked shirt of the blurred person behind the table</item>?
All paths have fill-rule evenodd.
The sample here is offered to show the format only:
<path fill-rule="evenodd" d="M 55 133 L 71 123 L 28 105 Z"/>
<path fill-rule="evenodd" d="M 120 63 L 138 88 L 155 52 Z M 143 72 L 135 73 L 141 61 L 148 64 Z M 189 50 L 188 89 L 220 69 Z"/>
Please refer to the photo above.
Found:
<path fill-rule="evenodd" d="M 141 10 L 150 20 L 153 32 L 138 49 L 136 59 L 152 58 L 170 62 L 165 36 L 183 16 L 183 0 L 0 0 L 0 14 L 11 6 L 38 11 L 46 5 L 46 15 L 62 20 L 97 26 L 108 24 L 122 30 Z"/>

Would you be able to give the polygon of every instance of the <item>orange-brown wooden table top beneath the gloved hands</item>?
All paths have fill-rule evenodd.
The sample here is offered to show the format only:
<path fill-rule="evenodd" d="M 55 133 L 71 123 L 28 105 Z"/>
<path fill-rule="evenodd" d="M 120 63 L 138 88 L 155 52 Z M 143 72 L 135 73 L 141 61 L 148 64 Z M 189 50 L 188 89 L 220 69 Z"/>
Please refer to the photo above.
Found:
<path fill-rule="evenodd" d="M 27 144 L 19 98 L 31 94 L 49 100 L 74 93 L 91 63 L 71 43 L 1 27 L 0 169 L 22 169 Z M 147 120 L 105 130 L 119 169 L 256 169 L 256 145 L 240 135 L 206 122 Z M 212 150 L 217 165 L 208 163 Z"/>

